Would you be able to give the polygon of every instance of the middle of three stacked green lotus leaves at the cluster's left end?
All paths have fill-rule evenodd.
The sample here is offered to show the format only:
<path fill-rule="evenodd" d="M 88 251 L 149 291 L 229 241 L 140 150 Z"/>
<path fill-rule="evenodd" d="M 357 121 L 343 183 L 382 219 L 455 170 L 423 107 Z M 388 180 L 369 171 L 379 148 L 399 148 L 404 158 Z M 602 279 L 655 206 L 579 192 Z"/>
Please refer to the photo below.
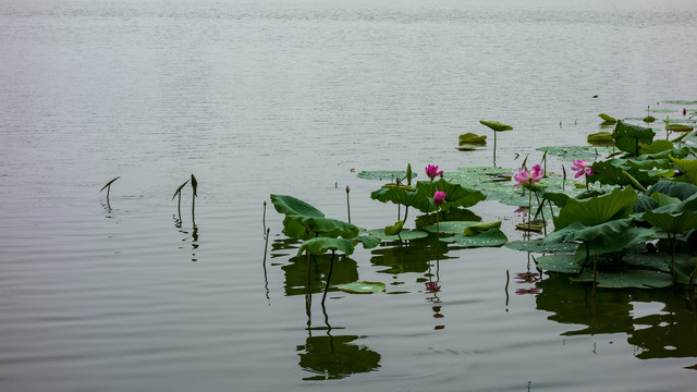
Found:
<path fill-rule="evenodd" d="M 309 233 L 306 228 L 309 228 Z M 359 229 L 337 219 L 288 215 L 283 219 L 283 234 L 299 240 L 315 236 L 353 238 L 358 236 Z"/>

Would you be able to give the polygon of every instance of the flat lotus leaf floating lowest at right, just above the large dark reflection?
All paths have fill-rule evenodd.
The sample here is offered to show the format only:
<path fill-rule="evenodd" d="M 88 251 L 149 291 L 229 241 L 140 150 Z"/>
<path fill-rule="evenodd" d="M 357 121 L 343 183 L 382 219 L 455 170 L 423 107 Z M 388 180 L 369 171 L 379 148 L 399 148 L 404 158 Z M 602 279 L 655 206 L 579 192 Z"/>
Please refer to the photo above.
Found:
<path fill-rule="evenodd" d="M 590 283 L 592 278 L 592 271 L 586 269 L 580 277 L 571 278 L 571 281 Z M 660 289 L 673 285 L 670 273 L 640 269 L 598 271 L 596 282 L 598 287 L 604 289 Z"/>

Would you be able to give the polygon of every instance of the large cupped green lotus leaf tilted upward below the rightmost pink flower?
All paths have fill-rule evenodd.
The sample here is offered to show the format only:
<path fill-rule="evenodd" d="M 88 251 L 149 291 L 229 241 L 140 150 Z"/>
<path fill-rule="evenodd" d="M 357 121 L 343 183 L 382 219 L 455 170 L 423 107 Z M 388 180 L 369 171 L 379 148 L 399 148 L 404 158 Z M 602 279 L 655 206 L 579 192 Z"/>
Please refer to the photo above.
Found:
<path fill-rule="evenodd" d="M 637 199 L 636 192 L 629 187 L 615 188 L 607 195 L 584 200 L 568 199 L 554 220 L 555 230 L 561 230 L 574 222 L 594 226 L 610 220 L 627 218 Z"/>

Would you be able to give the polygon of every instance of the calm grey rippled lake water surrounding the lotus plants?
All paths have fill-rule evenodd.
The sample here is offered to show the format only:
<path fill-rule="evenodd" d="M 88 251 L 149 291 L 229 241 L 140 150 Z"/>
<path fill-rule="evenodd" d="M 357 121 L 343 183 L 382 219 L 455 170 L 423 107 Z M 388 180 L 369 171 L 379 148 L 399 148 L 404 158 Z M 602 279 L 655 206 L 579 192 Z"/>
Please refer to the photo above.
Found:
<path fill-rule="evenodd" d="M 332 282 L 387 292 L 322 307 L 328 260 L 308 296 L 271 205 L 265 250 L 262 203 L 346 219 L 350 185 L 352 222 L 382 228 L 395 208 L 356 172 L 490 164 L 491 146 L 455 149 L 479 120 L 515 127 L 497 164 L 516 168 L 584 144 L 598 113 L 682 110 L 659 102 L 697 99 L 696 21 L 692 0 L 4 0 L 0 390 L 690 389 L 680 292 L 594 302 L 514 279 L 525 253 L 386 243 Z M 181 224 L 172 200 L 192 173 L 195 226 L 191 188 Z M 473 208 L 518 240 L 513 210 Z"/>

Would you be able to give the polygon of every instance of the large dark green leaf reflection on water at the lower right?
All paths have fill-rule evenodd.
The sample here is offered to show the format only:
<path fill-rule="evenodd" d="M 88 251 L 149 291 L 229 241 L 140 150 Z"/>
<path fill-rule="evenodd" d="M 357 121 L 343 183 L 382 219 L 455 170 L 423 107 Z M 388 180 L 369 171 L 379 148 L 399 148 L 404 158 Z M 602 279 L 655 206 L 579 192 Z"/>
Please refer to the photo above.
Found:
<path fill-rule="evenodd" d="M 574 327 L 563 335 L 627 335 L 641 359 L 697 356 L 695 304 L 675 290 L 599 290 L 589 284 L 570 284 L 568 275 L 552 274 L 537 283 L 537 308 L 548 318 Z M 651 306 L 649 315 L 640 315 Z M 657 305 L 660 309 L 653 310 Z"/>

